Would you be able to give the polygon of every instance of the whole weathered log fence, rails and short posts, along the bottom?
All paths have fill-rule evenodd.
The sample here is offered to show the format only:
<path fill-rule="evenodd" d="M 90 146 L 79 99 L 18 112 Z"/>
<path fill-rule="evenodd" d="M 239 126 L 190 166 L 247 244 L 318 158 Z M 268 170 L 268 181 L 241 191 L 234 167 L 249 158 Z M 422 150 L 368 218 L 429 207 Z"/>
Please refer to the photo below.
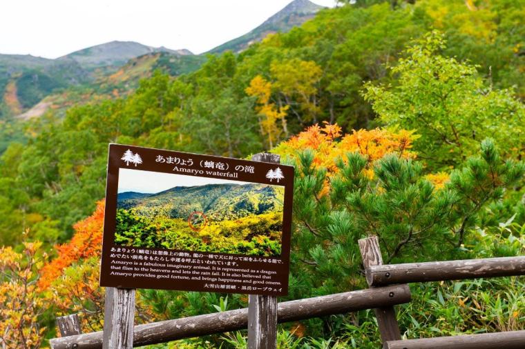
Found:
<path fill-rule="evenodd" d="M 395 305 L 410 301 L 410 290 L 405 283 L 525 275 L 525 257 L 383 265 L 376 237 L 359 240 L 359 248 L 369 289 L 278 303 L 276 322 L 283 323 L 374 309 L 385 349 L 525 348 L 525 330 L 401 340 L 399 324 L 394 311 Z M 264 309 L 264 306 L 261 309 Z M 259 314 L 259 316 L 265 315 Z M 57 318 L 57 322 L 62 337 L 51 339 L 51 348 L 98 349 L 103 347 L 103 332 L 81 334 L 77 315 Z M 133 346 L 144 346 L 242 330 L 248 326 L 249 309 L 243 308 L 132 326 L 130 331 L 133 334 Z M 269 336 L 265 339 L 265 343 L 251 341 L 250 349 L 276 348 L 274 337 L 276 323 L 272 330 L 265 330 L 264 333 Z M 107 346 L 107 343 L 104 345 Z M 122 347 L 115 345 L 110 348 Z"/>

